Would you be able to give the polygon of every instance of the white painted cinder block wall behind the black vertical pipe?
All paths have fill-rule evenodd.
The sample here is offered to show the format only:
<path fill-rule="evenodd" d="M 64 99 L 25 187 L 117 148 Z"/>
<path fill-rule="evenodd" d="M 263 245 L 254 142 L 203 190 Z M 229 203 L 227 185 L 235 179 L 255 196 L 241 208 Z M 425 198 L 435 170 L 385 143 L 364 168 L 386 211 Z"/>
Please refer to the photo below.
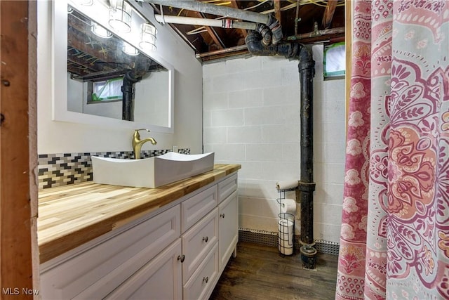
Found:
<path fill-rule="evenodd" d="M 339 242 L 344 80 L 323 81 L 322 51 L 322 46 L 314 46 L 314 238 Z M 275 56 L 203 65 L 204 151 L 214 151 L 217 163 L 242 166 L 241 228 L 276 232 L 276 181 L 300 179 L 297 63 Z"/>

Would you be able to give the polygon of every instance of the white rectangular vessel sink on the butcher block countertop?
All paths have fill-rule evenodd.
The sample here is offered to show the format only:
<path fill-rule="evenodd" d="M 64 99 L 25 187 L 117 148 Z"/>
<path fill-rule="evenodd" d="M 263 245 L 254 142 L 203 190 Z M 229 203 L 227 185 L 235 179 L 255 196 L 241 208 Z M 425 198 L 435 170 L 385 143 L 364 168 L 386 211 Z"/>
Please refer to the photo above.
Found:
<path fill-rule="evenodd" d="M 214 153 L 186 155 L 168 152 L 144 159 L 91 157 L 93 182 L 157 188 L 213 169 Z"/>

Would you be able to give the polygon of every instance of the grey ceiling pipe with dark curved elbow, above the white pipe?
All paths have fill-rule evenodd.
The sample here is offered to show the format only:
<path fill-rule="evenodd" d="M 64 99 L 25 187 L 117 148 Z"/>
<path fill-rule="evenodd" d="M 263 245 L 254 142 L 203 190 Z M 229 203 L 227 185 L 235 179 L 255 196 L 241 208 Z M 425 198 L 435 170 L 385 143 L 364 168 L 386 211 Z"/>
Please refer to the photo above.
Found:
<path fill-rule="evenodd" d="M 210 13 L 211 15 L 222 15 L 229 18 L 255 22 L 262 26 L 256 30 L 262 34 L 262 42 L 265 46 L 269 44 L 278 44 L 281 41 L 283 34 L 281 24 L 272 15 L 263 15 L 262 13 L 255 13 L 253 11 L 244 11 L 239 8 L 232 8 L 228 6 L 217 6 L 215 4 L 208 4 L 196 0 L 145 0 L 152 4 L 159 4 L 163 6 L 173 6 L 175 8 L 187 9 L 188 11 L 199 11 L 200 13 Z M 166 20 L 164 15 L 162 22 Z"/>

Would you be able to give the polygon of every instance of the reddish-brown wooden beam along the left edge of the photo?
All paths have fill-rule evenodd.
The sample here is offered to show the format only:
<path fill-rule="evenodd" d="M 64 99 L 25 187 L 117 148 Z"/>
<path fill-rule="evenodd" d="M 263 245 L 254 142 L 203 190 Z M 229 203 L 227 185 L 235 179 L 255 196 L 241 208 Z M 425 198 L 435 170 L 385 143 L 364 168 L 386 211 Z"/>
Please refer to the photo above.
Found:
<path fill-rule="evenodd" d="M 37 190 L 36 195 L 30 192 L 31 178 L 36 181 L 30 170 L 30 165 L 35 165 L 30 164 L 30 157 L 36 159 L 36 147 L 30 148 L 35 145 L 36 124 L 30 122 L 36 120 L 29 111 L 33 106 L 35 112 L 36 102 L 36 90 L 29 89 L 36 81 L 35 60 L 29 58 L 29 52 L 35 56 L 36 50 L 28 47 L 28 39 L 33 39 L 28 36 L 29 6 L 29 1 L 0 1 L 1 299 L 33 299 L 33 293 L 23 292 L 33 291 L 32 244 L 37 244 L 32 240 L 36 238 L 32 203 L 37 202 Z"/>

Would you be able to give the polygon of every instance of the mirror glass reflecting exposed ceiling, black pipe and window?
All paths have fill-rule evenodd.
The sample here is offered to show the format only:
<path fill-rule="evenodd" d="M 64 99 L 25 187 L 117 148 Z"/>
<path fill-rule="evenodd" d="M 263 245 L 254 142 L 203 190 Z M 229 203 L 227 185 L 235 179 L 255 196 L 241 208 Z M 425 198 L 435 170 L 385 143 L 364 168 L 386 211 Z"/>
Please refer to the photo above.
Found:
<path fill-rule="evenodd" d="M 72 6 L 67 21 L 67 110 L 170 126 L 170 71 Z"/>

